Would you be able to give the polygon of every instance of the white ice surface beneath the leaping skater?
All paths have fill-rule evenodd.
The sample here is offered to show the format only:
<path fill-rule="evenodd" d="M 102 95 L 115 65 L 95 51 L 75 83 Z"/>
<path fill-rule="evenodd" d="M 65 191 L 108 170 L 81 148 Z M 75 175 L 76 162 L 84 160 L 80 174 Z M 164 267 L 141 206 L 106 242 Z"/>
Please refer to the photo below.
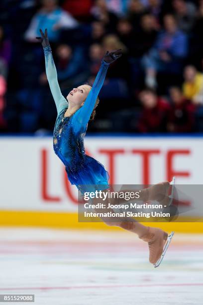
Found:
<path fill-rule="evenodd" d="M 203 235 L 176 233 L 154 269 L 133 233 L 1 227 L 0 294 L 34 294 L 35 305 L 201 305 Z"/>

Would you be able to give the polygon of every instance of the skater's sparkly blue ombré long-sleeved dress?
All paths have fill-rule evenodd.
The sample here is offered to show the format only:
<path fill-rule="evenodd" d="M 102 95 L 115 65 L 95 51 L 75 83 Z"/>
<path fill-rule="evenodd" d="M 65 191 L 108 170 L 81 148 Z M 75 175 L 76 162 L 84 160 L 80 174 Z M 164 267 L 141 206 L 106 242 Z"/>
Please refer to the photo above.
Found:
<path fill-rule="evenodd" d="M 47 79 L 58 113 L 54 128 L 54 152 L 64 163 L 69 181 L 75 184 L 82 194 L 86 191 L 107 189 L 108 172 L 99 161 L 85 153 L 84 137 L 109 64 L 102 60 L 100 71 L 85 104 L 71 117 L 64 117 L 68 101 L 61 93 L 50 47 L 44 48 L 44 55 Z"/>

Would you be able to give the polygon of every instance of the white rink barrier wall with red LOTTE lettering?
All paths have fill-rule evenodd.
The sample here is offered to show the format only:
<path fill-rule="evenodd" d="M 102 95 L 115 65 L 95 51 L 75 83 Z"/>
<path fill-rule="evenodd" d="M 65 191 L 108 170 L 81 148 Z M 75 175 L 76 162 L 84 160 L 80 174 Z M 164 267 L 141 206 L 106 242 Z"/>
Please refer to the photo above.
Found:
<path fill-rule="evenodd" d="M 86 137 L 111 184 L 203 184 L 203 138 Z M 77 188 L 54 154 L 52 138 L 0 138 L 0 210 L 77 211 Z"/>

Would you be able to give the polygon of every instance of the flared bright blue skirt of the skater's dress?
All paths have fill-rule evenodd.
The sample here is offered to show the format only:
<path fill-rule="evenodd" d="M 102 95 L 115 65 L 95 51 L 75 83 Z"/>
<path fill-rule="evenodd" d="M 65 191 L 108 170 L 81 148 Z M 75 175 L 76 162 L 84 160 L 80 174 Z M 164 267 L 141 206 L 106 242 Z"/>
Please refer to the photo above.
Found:
<path fill-rule="evenodd" d="M 77 170 L 66 167 L 66 172 L 71 184 L 75 184 L 82 194 L 109 188 L 108 172 L 102 163 L 91 156 L 87 156 L 85 163 L 79 165 Z"/>

